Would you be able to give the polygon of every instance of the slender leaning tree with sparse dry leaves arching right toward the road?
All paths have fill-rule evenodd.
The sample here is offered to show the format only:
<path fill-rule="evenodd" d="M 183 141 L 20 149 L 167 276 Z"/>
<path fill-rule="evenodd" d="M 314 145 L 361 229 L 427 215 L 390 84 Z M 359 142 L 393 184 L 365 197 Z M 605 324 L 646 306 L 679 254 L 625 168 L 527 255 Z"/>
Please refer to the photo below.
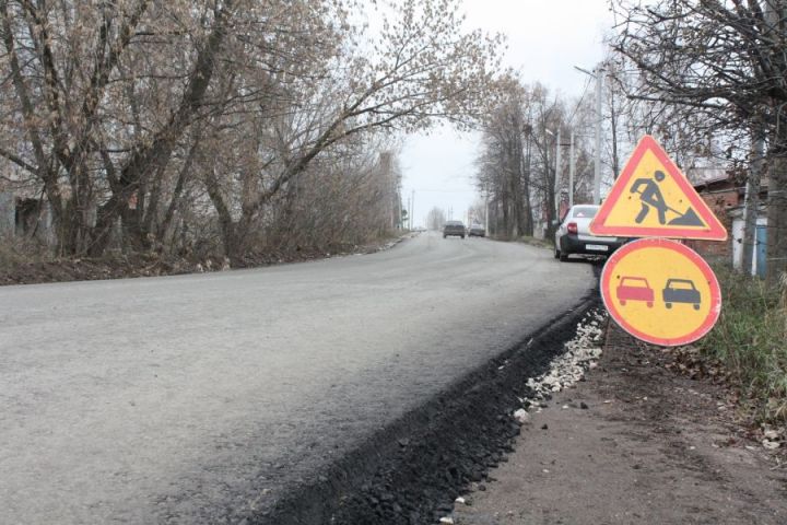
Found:
<path fill-rule="evenodd" d="M 372 131 L 416 131 L 447 119 L 469 126 L 494 86 L 501 38 L 465 33 L 456 0 L 392 2 L 374 43 L 375 54 L 351 47 L 327 60 L 338 72 L 315 83 L 307 79 L 274 130 L 277 149 L 266 175 L 270 182 L 248 202 L 237 224 L 213 191 L 222 222 L 231 231 L 227 252 L 244 249 L 252 218 L 318 155 L 346 138 Z M 308 88 L 307 83 L 312 85 Z M 230 228 L 232 226 L 232 228 Z"/>

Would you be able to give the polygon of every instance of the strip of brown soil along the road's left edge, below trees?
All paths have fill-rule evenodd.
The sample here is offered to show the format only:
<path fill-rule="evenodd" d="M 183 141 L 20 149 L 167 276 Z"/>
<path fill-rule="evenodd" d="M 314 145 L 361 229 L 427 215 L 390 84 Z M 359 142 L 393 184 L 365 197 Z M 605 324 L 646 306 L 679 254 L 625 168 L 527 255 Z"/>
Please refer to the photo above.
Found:
<path fill-rule="evenodd" d="M 109 254 L 101 258 L 55 258 L 25 260 L 24 256 L 0 258 L 0 285 L 43 282 L 92 281 L 181 273 L 222 271 L 231 268 L 257 268 L 284 262 L 303 262 L 343 255 L 372 254 L 387 249 L 407 235 L 385 238 L 365 245 L 337 245 L 329 248 L 298 247 L 292 250 L 267 250 L 244 260 L 230 262 L 226 257 L 195 255 L 177 257 L 157 253 Z"/>

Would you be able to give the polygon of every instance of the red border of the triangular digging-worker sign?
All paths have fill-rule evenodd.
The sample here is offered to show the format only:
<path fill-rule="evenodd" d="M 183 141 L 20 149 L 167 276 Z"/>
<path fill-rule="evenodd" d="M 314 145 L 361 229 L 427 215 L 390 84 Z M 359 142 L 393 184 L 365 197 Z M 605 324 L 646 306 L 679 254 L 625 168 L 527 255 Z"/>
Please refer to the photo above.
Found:
<path fill-rule="evenodd" d="M 615 202 L 621 198 L 623 189 L 629 184 L 629 179 L 634 175 L 634 172 L 639 167 L 642 158 L 645 156 L 647 151 L 651 151 L 656 159 L 665 166 L 665 170 L 669 173 L 672 180 L 678 184 L 678 187 L 683 191 L 686 199 L 691 203 L 692 208 L 696 210 L 697 214 L 708 225 L 707 230 L 689 230 L 684 228 L 663 226 L 663 228 L 646 228 L 646 226 L 608 226 L 607 219 L 609 218 Z M 590 232 L 597 235 L 619 235 L 629 237 L 674 237 L 674 238 L 696 238 L 706 241 L 726 241 L 727 229 L 725 229 L 719 222 L 718 218 L 710 211 L 710 208 L 700 197 L 696 190 L 689 184 L 685 175 L 676 166 L 672 160 L 663 151 L 663 148 L 656 142 L 656 139 L 646 135 L 642 138 L 636 149 L 632 153 L 632 156 L 626 162 L 623 172 L 621 173 L 615 184 L 612 185 L 610 194 L 604 199 L 601 208 L 599 209 L 596 218 L 590 223 Z"/>

